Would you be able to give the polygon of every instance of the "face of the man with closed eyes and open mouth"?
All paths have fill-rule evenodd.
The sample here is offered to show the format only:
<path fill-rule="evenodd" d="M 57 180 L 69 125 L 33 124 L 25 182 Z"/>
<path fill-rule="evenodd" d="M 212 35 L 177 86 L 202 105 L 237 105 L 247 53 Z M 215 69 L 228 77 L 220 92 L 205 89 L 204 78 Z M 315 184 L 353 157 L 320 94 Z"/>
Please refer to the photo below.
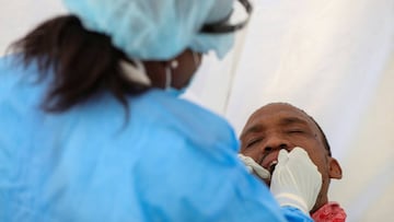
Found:
<path fill-rule="evenodd" d="M 328 155 L 323 136 L 313 120 L 289 104 L 269 104 L 255 112 L 241 135 L 241 153 L 251 156 L 273 173 L 280 149 L 303 148 L 322 174 L 323 184 L 312 212 L 326 203 L 329 178 L 340 178 L 341 171 Z M 269 186 L 269 182 L 266 182 Z"/>

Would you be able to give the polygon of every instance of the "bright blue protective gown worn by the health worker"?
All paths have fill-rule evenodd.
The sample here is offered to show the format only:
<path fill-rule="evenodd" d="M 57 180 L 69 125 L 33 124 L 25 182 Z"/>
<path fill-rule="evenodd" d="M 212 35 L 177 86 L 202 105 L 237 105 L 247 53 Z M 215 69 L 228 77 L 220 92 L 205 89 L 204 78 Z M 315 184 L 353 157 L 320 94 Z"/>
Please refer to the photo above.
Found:
<path fill-rule="evenodd" d="M 222 118 L 151 90 L 51 114 L 35 65 L 0 60 L 0 221 L 312 221 L 279 208 Z"/>

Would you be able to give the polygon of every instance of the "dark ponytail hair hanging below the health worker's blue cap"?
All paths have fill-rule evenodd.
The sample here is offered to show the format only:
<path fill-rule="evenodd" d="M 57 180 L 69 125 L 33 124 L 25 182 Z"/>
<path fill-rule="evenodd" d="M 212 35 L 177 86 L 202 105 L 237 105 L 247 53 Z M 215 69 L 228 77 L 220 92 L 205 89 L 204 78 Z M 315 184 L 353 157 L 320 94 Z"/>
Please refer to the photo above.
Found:
<path fill-rule="evenodd" d="M 113 46 L 111 37 L 85 30 L 73 15 L 44 22 L 10 49 L 22 55 L 25 66 L 36 61 L 40 78 L 54 73 L 43 101 L 48 112 L 67 110 L 103 90 L 127 107 L 127 94 L 137 95 L 148 90 L 125 79 L 119 61 L 127 58 Z"/>

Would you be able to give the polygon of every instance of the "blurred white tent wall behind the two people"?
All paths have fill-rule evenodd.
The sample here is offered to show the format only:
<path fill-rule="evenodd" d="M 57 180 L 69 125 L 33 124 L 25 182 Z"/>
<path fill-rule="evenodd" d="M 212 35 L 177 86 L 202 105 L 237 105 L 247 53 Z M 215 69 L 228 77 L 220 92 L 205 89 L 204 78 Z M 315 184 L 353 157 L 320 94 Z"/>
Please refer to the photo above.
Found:
<path fill-rule="evenodd" d="M 60 0 L 0 0 L 0 55 Z M 329 199 L 348 221 L 390 221 L 394 206 L 394 0 L 252 0 L 248 27 L 222 61 L 205 58 L 184 96 L 239 133 L 271 102 L 291 103 L 326 132 L 344 178 Z"/>

